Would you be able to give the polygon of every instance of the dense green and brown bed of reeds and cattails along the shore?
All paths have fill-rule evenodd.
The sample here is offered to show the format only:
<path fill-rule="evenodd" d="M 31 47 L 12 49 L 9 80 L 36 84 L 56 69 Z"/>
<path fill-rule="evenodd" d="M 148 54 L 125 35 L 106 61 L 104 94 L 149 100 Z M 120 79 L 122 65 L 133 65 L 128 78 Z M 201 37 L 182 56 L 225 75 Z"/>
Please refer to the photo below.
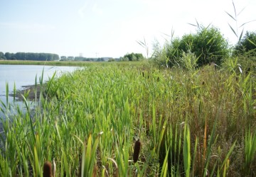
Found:
<path fill-rule="evenodd" d="M 2 120 L 0 176 L 43 176 L 46 161 L 56 176 L 255 176 L 255 84 L 147 62 L 53 77 Z"/>

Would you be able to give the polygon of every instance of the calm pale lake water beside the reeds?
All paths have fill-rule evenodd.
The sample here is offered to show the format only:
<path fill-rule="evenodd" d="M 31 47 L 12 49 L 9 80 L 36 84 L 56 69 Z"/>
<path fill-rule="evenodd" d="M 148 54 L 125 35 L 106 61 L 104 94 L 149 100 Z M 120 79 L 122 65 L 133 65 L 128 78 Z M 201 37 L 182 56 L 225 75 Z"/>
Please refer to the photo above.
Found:
<path fill-rule="evenodd" d="M 60 76 L 65 72 L 74 72 L 79 67 L 55 67 L 43 65 L 12 65 L 0 64 L 0 99 L 6 104 L 6 83 L 9 85 L 9 93 L 13 93 L 14 84 L 16 90 L 24 89 L 23 86 L 34 85 L 36 78 L 39 83 L 39 78 L 43 73 L 43 81 L 48 81 L 56 72 L 56 76 Z M 14 98 L 9 96 L 9 101 Z M 0 103 L 2 108 L 2 105 Z"/>

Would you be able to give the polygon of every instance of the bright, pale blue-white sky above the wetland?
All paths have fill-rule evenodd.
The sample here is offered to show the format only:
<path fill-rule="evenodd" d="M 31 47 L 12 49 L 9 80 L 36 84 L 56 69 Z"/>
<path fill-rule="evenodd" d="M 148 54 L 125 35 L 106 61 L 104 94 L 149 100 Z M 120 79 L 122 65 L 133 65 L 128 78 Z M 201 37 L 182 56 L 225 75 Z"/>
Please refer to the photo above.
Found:
<path fill-rule="evenodd" d="M 188 23 L 214 25 L 235 44 L 242 23 L 256 20 L 255 0 L 0 0 L 0 52 L 49 52 L 60 56 L 122 57 L 156 42 L 196 33 Z M 238 26 L 238 28 L 236 28 Z M 255 31 L 256 21 L 244 25 Z"/>

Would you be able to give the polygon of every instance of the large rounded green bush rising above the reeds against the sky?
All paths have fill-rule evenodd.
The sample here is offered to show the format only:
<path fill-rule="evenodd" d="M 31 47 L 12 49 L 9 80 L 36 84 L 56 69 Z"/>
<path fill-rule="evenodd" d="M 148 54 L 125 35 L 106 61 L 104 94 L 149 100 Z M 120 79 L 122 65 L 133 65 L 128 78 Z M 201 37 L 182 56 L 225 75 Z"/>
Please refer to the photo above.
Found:
<path fill-rule="evenodd" d="M 182 57 L 185 53 L 193 53 L 197 59 L 198 67 L 215 63 L 220 64 L 228 57 L 228 42 L 223 38 L 220 30 L 215 27 L 198 27 L 196 34 L 183 35 L 167 45 L 167 58 L 169 67 L 182 66 Z"/>

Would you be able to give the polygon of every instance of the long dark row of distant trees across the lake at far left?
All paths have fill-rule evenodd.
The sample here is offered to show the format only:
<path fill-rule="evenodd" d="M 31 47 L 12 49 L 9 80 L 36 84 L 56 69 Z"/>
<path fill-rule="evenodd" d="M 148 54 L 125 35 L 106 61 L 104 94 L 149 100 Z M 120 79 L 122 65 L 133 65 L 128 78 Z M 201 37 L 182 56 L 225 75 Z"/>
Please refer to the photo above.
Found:
<path fill-rule="evenodd" d="M 60 57 L 57 54 L 51 53 L 32 53 L 32 52 L 17 52 L 10 53 L 0 52 L 0 59 L 8 60 L 36 60 L 36 61 L 55 61 L 59 60 Z"/>

